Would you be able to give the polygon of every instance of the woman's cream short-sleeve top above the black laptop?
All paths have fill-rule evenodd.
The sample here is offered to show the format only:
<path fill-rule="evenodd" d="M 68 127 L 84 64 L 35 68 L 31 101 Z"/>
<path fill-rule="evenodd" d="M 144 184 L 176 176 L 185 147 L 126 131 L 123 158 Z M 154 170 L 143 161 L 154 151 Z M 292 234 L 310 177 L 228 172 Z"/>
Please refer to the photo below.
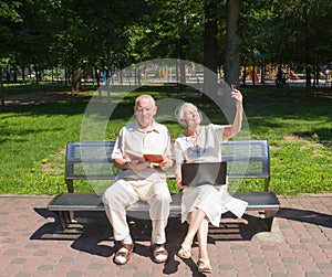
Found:
<path fill-rule="evenodd" d="M 224 141 L 224 125 L 201 126 L 197 138 L 179 135 L 175 140 L 176 163 L 221 161 L 220 142 Z"/>

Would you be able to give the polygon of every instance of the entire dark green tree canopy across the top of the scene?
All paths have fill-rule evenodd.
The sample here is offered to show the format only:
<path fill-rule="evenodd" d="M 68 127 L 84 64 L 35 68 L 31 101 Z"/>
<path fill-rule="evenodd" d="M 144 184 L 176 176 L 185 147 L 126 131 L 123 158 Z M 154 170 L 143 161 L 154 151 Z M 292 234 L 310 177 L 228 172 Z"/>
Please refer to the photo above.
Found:
<path fill-rule="evenodd" d="M 227 18 L 230 2 L 238 20 Z M 172 57 L 226 65 L 231 79 L 236 60 L 310 73 L 331 63 L 331 14 L 325 0 L 0 0 L 0 70 L 73 73 Z"/>

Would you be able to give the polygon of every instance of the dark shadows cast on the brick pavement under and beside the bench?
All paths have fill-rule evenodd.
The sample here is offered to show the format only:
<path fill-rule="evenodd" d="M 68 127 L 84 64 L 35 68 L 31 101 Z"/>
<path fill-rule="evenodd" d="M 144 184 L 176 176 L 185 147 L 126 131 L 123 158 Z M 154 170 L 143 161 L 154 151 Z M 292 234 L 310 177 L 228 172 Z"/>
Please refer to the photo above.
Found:
<path fill-rule="evenodd" d="M 118 244 L 114 242 L 112 227 L 104 212 L 75 213 L 75 220 L 80 228 L 63 232 L 61 231 L 61 224 L 55 213 L 46 209 L 38 207 L 35 207 L 34 211 L 42 217 L 49 219 L 50 222 L 40 226 L 40 228 L 31 235 L 30 239 L 70 239 L 73 242 L 71 244 L 73 249 L 106 258 L 111 258 L 118 248 Z M 277 220 L 287 219 L 332 227 L 332 215 L 309 210 L 281 207 L 276 217 Z M 152 258 L 149 251 L 151 222 L 148 220 L 137 220 L 128 216 L 128 223 L 132 237 L 135 242 L 134 253 L 143 257 Z M 274 222 L 274 224 L 277 223 Z M 179 219 L 169 219 L 166 230 L 166 247 L 169 252 L 169 258 L 164 265 L 164 274 L 177 271 L 179 262 L 178 257 L 176 258 L 176 253 L 186 235 L 187 227 L 188 225 L 186 223 L 181 224 Z M 258 216 L 245 214 L 242 219 L 237 220 L 231 214 L 225 214 L 219 227 L 210 226 L 208 243 L 216 244 L 218 241 L 251 241 L 256 234 L 267 232 L 268 228 L 269 223 Z M 195 247 L 197 247 L 196 244 L 194 244 L 193 248 Z M 201 276 L 197 271 L 197 266 L 191 258 L 184 259 L 183 263 L 187 264 L 193 276 Z"/>

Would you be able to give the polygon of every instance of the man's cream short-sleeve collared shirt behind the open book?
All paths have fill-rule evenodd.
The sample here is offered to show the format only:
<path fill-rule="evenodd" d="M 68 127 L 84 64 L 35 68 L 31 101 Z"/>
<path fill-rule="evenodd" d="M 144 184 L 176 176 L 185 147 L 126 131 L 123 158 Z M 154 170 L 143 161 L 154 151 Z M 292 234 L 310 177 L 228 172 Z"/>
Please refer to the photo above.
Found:
<path fill-rule="evenodd" d="M 115 141 L 112 152 L 112 159 L 122 158 L 128 160 L 126 151 L 137 153 L 158 153 L 165 158 L 174 160 L 174 148 L 170 134 L 166 126 L 153 121 L 152 127 L 145 131 L 138 122 L 124 126 Z M 165 179 L 166 175 L 162 170 L 147 168 L 139 172 L 133 170 L 124 170 L 116 179 L 141 180 L 152 174 Z"/>

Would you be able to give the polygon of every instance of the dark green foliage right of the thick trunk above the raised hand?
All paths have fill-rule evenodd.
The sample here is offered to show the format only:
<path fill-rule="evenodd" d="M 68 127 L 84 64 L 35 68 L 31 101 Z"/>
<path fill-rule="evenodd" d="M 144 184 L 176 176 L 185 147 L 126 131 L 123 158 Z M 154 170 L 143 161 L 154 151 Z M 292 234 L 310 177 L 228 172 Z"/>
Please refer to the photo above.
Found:
<path fill-rule="evenodd" d="M 243 1 L 242 11 L 240 30 L 246 64 L 313 66 L 331 62 L 331 1 Z"/>

